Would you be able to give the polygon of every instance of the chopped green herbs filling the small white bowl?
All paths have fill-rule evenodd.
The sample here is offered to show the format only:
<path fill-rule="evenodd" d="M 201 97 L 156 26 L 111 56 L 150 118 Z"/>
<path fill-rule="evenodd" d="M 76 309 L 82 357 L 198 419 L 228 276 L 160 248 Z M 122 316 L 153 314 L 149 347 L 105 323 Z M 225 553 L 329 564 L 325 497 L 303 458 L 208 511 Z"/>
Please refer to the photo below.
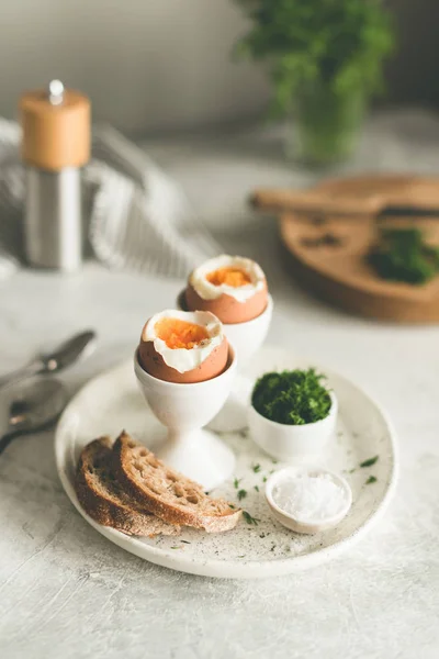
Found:
<path fill-rule="evenodd" d="M 325 418 L 330 410 L 325 376 L 314 368 L 264 373 L 257 380 L 251 404 L 259 414 L 286 425 L 304 425 Z"/>

